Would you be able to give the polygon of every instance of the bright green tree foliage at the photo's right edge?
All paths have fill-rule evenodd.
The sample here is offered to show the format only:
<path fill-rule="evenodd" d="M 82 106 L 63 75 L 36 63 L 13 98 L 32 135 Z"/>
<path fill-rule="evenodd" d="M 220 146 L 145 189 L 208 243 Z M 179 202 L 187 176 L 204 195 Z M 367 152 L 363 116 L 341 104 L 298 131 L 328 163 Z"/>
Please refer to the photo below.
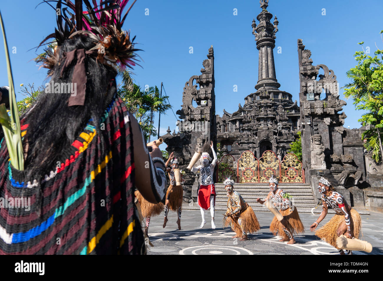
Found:
<path fill-rule="evenodd" d="M 383 30 L 380 34 L 383 33 Z M 381 35 L 380 35 L 381 37 Z M 383 41 L 383 39 L 382 39 Z M 362 45 L 363 43 L 358 43 Z M 347 71 L 351 82 L 346 84 L 344 95 L 352 98 L 355 108 L 367 112 L 358 119 L 367 130 L 362 133 L 362 139 L 368 151 L 372 151 L 373 159 L 381 161 L 383 155 L 383 50 L 376 50 L 374 57 L 364 51 L 355 52 L 357 65 Z"/>

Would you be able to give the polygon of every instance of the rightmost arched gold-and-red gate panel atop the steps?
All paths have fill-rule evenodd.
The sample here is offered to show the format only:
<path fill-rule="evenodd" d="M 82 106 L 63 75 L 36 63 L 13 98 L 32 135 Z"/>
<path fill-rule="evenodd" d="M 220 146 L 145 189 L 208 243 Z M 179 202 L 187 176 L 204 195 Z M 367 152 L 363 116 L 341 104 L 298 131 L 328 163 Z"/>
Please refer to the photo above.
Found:
<path fill-rule="evenodd" d="M 281 162 L 280 182 L 303 182 L 302 162 L 294 154 L 289 153 Z"/>

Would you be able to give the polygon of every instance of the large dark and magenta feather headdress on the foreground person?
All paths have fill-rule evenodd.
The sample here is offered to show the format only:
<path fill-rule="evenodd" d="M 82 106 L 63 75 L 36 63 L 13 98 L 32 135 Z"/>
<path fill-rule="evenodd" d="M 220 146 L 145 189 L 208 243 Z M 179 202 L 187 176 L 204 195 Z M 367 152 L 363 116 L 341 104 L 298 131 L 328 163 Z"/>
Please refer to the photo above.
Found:
<path fill-rule="evenodd" d="M 57 28 L 55 32 L 49 34 L 39 45 L 57 44 L 54 50 L 48 48 L 45 56 L 39 56 L 36 60 L 42 61 L 42 67 L 48 68 L 48 75 L 52 75 L 54 65 L 59 63 L 57 48 L 59 48 L 65 40 L 73 36 L 88 36 L 94 40 L 95 46 L 86 50 L 87 55 L 97 57 L 101 63 L 108 65 L 118 65 L 120 68 L 133 67 L 137 61 L 135 54 L 139 49 L 134 48 L 134 38 L 130 39 L 128 31 L 121 29 L 129 10 L 133 4 L 122 16 L 122 11 L 129 0 L 92 0 L 93 6 L 88 0 L 43 0 L 43 2 L 57 2 Z M 43 3 L 42 2 L 42 3 Z M 86 11 L 83 11 L 83 3 Z M 48 39 L 54 38 L 52 42 L 46 42 Z M 55 43 L 56 42 L 56 43 Z"/>

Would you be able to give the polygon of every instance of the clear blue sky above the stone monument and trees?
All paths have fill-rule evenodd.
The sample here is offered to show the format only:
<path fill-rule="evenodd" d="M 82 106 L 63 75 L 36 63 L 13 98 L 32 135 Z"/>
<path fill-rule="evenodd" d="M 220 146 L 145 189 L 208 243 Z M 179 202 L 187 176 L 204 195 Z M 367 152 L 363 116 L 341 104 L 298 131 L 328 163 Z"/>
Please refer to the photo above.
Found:
<path fill-rule="evenodd" d="M 45 83 L 46 70 L 39 69 L 32 61 L 42 49 L 37 52 L 29 49 L 54 32 L 56 13 L 44 3 L 35 8 L 39 2 L 13 0 L 0 4 L 16 93 L 20 92 L 21 83 Z M 233 15 L 234 8 L 237 15 Z M 146 9 L 149 15 L 145 15 Z M 326 9 L 326 15 L 322 15 L 322 9 Z M 298 38 L 311 50 L 313 65 L 325 64 L 334 70 L 341 87 L 349 82 L 346 71 L 356 65 L 353 55 L 361 50 L 358 42 L 364 41 L 371 54 L 376 50 L 375 43 L 383 48 L 379 34 L 383 29 L 381 0 L 270 0 L 267 10 L 277 15 L 279 21 L 274 50 L 277 79 L 280 89 L 293 95 L 293 101 L 298 100 L 299 92 Z M 136 35 L 136 42 L 140 43 L 137 47 L 144 50 L 139 52 L 142 68 L 134 69 L 135 83 L 142 88 L 146 84 L 160 87 L 162 81 L 176 112 L 182 104 L 185 82 L 190 76 L 200 74 L 202 61 L 213 45 L 216 114 L 222 116 L 223 109 L 236 111 L 257 84 L 258 50 L 251 23 L 260 11 L 258 0 L 138 0 L 124 23 L 124 29 Z M 193 54 L 189 53 L 189 47 L 193 47 Z M 277 47 L 282 47 L 281 54 L 277 53 Z M 0 44 L 0 65 L 3 86 L 8 84 L 3 44 Z M 233 85 L 237 85 L 238 92 L 233 92 Z M 339 94 L 345 99 L 342 89 Z M 23 98 L 20 93 L 16 97 Z M 345 100 L 344 112 L 348 116 L 345 127 L 359 128 L 357 120 L 362 112 L 355 111 L 351 100 Z M 175 124 L 176 117 L 169 110 L 161 116 L 160 134 L 165 134 L 168 126 L 173 132 Z"/>

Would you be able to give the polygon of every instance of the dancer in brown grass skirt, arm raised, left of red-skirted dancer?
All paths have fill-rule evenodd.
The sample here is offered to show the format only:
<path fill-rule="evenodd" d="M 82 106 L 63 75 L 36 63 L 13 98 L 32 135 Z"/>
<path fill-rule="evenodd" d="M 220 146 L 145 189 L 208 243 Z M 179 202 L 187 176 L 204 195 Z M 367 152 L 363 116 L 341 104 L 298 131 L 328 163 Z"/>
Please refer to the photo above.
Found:
<path fill-rule="evenodd" d="M 174 153 L 170 153 L 169 159 L 166 161 L 165 166 L 167 167 L 169 165 L 169 162 L 171 159 L 173 159 Z M 177 212 L 177 226 L 178 230 L 181 230 L 181 212 L 182 212 L 182 198 L 183 198 L 183 188 L 181 183 L 183 183 L 183 178 L 182 174 L 180 173 L 178 169 L 178 159 L 175 157 L 171 164 L 170 168 L 166 168 L 166 171 L 169 174 L 169 180 L 170 180 L 170 185 L 167 189 L 166 192 L 166 201 L 165 201 L 165 206 L 164 206 L 164 224 L 162 227 L 165 228 L 166 223 L 168 221 L 167 215 L 169 213 L 169 207 L 170 210 L 176 211 Z M 177 173 L 178 176 L 180 177 L 180 182 L 177 184 Z"/>

